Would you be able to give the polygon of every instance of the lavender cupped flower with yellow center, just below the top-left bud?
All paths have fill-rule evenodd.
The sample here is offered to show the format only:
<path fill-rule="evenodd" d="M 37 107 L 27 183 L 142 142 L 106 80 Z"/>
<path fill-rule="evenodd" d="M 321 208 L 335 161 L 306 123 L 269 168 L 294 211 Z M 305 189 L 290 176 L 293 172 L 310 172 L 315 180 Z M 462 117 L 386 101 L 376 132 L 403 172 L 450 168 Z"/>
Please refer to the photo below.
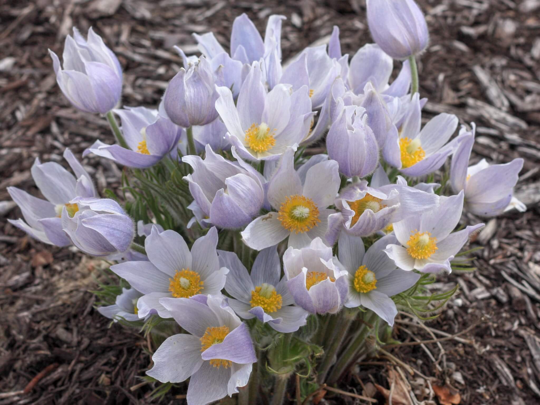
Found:
<path fill-rule="evenodd" d="M 183 129 L 158 110 L 146 107 L 126 107 L 113 110 L 122 120 L 122 133 L 129 149 L 95 141 L 83 153 L 96 154 L 128 167 L 150 167 L 178 147 Z"/>

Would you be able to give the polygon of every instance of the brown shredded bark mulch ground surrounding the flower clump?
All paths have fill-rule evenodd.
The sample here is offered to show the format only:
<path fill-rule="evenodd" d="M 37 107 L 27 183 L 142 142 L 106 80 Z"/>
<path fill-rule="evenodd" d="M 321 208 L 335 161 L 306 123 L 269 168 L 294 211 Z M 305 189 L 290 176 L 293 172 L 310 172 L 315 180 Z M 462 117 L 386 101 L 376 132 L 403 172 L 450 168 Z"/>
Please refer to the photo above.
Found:
<path fill-rule="evenodd" d="M 348 395 L 326 390 L 314 398 L 367 403 L 350 396 L 363 393 L 383 404 L 393 389 L 394 405 L 537 404 L 540 1 L 420 4 L 431 32 L 419 66 L 421 94 L 429 98 L 424 119 L 453 112 L 462 123 L 476 122 L 475 161 L 523 157 L 517 196 L 529 210 L 487 222 L 475 241 L 484 247 L 474 261 L 478 271 L 441 276 L 438 288 L 457 283 L 460 293 L 438 319 L 421 325 L 399 316 L 395 338 L 408 346 L 363 361 L 340 383 Z M 156 402 L 149 395 L 154 387 L 140 378 L 156 347 L 137 330 L 109 328 L 93 308 L 88 291 L 96 288 L 103 263 L 75 249 L 40 244 L 6 221 L 20 215 L 6 186 L 38 194 L 30 176 L 36 157 L 62 163 L 65 147 L 80 156 L 96 139 L 112 141 L 103 118 L 78 112 L 62 96 L 47 49 L 60 54 L 72 26 L 93 26 L 124 68 L 123 103 L 155 106 L 181 66 L 172 46 L 192 53 L 190 33 L 210 30 L 228 43 L 241 12 L 263 32 L 268 15 L 287 16 L 285 59 L 329 35 L 333 25 L 340 26 L 344 53 L 370 41 L 360 0 L 0 3 L 0 405 Z M 100 191 L 119 186 L 116 165 L 96 157 L 83 163 Z M 183 403 L 183 394 L 180 385 L 161 403 Z"/>

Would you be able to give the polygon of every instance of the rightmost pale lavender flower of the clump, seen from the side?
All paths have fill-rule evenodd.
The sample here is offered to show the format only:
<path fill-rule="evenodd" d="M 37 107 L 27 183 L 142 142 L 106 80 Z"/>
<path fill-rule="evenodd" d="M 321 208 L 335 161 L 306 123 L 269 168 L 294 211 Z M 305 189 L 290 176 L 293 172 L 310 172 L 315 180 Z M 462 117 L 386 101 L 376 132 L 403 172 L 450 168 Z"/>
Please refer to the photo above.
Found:
<path fill-rule="evenodd" d="M 476 130 L 474 123 L 471 126 L 470 132 L 464 128 L 460 131 L 464 139 L 452 158 L 450 168 L 452 189 L 456 193 L 462 190 L 465 193 L 465 210 L 482 217 L 494 217 L 506 211 L 511 202 L 518 211 L 527 210 L 523 203 L 512 197 L 523 159 L 501 165 L 489 165 L 482 159 L 469 167 Z"/>

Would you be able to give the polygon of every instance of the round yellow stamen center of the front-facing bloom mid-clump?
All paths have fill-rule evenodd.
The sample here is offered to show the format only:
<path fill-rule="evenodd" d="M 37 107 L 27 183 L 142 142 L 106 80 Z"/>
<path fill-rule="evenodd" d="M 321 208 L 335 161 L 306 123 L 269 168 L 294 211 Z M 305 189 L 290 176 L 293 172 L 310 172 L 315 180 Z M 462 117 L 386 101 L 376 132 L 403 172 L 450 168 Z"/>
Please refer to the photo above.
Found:
<path fill-rule="evenodd" d="M 313 200 L 298 194 L 289 195 L 281 204 L 278 219 L 286 230 L 296 233 L 307 232 L 321 221 Z"/>

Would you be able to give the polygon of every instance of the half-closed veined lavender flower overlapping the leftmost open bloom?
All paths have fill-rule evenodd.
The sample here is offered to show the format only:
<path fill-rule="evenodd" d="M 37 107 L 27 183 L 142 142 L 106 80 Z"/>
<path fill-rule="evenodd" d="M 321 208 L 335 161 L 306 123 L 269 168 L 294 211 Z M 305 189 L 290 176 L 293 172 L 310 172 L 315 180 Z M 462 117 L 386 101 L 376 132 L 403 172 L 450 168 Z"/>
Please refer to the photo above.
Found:
<path fill-rule="evenodd" d="M 75 246 L 92 256 L 116 258 L 127 252 L 135 227 L 116 201 L 77 197 L 69 203 L 62 207 L 62 229 Z"/>

